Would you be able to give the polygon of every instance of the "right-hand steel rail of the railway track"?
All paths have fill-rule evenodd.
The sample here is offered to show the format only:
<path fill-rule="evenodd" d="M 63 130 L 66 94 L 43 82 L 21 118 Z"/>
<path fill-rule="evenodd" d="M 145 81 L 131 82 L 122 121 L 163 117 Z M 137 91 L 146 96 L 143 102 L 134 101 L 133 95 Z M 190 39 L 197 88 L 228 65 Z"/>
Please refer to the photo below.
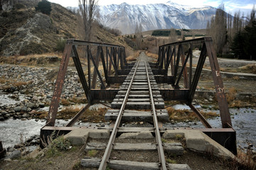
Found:
<path fill-rule="evenodd" d="M 145 68 L 146 68 L 146 73 L 147 73 L 147 77 L 148 77 L 148 89 L 150 91 L 150 103 L 151 103 L 151 107 L 152 107 L 152 116 L 153 116 L 153 122 L 154 122 L 154 126 L 155 126 L 155 138 L 157 140 L 157 152 L 158 152 L 158 157 L 159 157 L 159 161 L 160 161 L 160 169 L 165 170 L 165 169 L 167 169 L 166 162 L 165 162 L 165 152 L 162 147 L 162 140 L 161 140 L 160 130 L 159 130 L 159 126 L 158 126 L 157 113 L 155 111 L 155 103 L 154 103 L 152 88 L 150 85 L 150 77 L 148 74 L 148 65 L 147 65 L 147 62 L 145 59 L 144 59 L 144 62 L 145 62 Z"/>

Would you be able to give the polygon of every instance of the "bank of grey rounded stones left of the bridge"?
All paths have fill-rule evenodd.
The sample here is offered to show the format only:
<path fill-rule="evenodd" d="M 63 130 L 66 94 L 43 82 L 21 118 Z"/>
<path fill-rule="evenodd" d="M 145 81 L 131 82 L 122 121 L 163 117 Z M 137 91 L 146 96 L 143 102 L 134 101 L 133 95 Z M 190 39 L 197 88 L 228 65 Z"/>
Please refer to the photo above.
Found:
<path fill-rule="evenodd" d="M 38 111 L 50 105 L 57 68 L 4 64 L 0 70 L 0 120 L 43 118 Z M 83 95 L 77 72 L 68 69 L 62 99 L 79 101 Z"/>

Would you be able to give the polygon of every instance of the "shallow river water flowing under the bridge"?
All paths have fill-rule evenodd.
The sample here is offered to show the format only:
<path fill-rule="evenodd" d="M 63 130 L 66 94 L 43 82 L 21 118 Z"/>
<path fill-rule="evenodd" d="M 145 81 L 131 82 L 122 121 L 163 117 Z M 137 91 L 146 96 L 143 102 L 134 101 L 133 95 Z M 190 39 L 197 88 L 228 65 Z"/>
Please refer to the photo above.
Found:
<path fill-rule="evenodd" d="M 182 106 L 175 106 L 182 108 Z M 96 109 L 96 108 L 95 108 Z M 218 111 L 216 111 L 218 113 Z M 237 134 L 238 147 L 246 148 L 248 144 L 256 146 L 256 109 L 252 108 L 230 108 L 233 128 Z M 208 123 L 213 128 L 221 128 L 220 117 L 208 119 Z M 57 126 L 67 124 L 67 120 L 56 120 Z M 13 147 L 23 139 L 28 139 L 33 135 L 40 134 L 40 128 L 45 125 L 45 120 L 5 120 L 0 122 L 0 139 L 3 141 L 4 147 Z M 101 123 L 102 125 L 102 123 Z M 105 126 L 106 123 L 104 124 Z M 79 126 L 99 126 L 97 123 L 79 123 Z M 204 128 L 199 121 L 189 123 L 164 123 L 167 128 Z"/>

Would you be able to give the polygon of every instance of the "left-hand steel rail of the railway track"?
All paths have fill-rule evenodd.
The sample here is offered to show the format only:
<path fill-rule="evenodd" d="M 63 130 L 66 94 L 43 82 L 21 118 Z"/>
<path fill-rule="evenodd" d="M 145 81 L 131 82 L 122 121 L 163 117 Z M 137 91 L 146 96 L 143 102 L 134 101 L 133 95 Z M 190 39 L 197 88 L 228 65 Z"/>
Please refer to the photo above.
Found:
<path fill-rule="evenodd" d="M 103 157 L 101 159 L 101 164 L 99 165 L 99 169 L 100 170 L 105 170 L 106 169 L 106 165 L 107 165 L 108 159 L 110 157 L 111 150 L 113 148 L 113 142 L 116 139 L 116 133 L 117 133 L 119 124 L 121 122 L 121 118 L 123 116 L 124 109 L 126 108 L 126 102 L 128 100 L 128 96 L 130 94 L 130 89 L 132 87 L 133 80 L 134 80 L 135 74 L 137 72 L 137 68 L 138 68 L 139 62 L 140 62 L 140 59 L 138 60 L 137 65 L 136 65 L 136 67 L 134 69 L 133 77 L 130 80 L 130 85 L 128 86 L 128 89 L 126 91 L 126 96 L 123 98 L 123 103 L 122 103 L 122 106 L 121 106 L 120 111 L 118 113 L 118 117 L 116 118 L 116 123 L 115 123 L 115 125 L 113 127 L 111 136 L 109 137 L 109 140 L 108 140 L 108 145 L 106 146 L 106 150 L 105 150 L 104 155 L 103 155 Z"/>

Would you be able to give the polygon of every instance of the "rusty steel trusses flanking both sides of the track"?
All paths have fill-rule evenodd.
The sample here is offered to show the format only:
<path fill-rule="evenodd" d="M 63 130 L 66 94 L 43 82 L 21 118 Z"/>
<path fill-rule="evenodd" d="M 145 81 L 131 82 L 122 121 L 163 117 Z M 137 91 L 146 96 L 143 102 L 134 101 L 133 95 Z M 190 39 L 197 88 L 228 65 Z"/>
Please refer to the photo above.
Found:
<path fill-rule="evenodd" d="M 192 50 L 195 46 L 201 47 L 201 54 L 196 67 L 193 68 Z M 83 53 L 78 52 L 81 49 L 84 51 L 84 55 L 79 55 L 79 53 Z M 55 127 L 55 119 L 70 57 L 72 57 L 74 66 L 77 69 L 88 104 L 67 123 L 66 127 L 60 128 Z M 206 57 L 208 57 L 211 65 L 222 128 L 212 128 L 204 116 L 192 105 Z M 81 63 L 81 60 L 84 59 L 87 62 L 86 70 L 83 69 L 84 67 L 82 67 Z M 113 101 L 118 89 L 111 89 L 109 86 L 111 84 L 122 84 L 133 64 L 126 61 L 125 47 L 82 40 L 67 40 L 50 103 L 48 120 L 40 132 L 41 138 L 47 137 L 53 131 L 57 131 L 59 135 L 71 131 L 73 129 L 72 125 L 77 122 L 89 106 L 99 101 Z M 101 73 L 99 71 L 99 65 L 102 65 L 104 72 Z M 150 67 L 157 84 L 170 84 L 172 86 L 172 88 L 160 89 L 162 98 L 165 101 L 186 103 L 205 126 L 205 128 L 199 130 L 236 154 L 235 130 L 232 128 L 226 94 L 212 39 L 204 37 L 162 45 L 159 47 L 157 62 L 151 62 Z M 93 69 L 93 72 L 91 69 Z M 84 71 L 87 74 L 84 74 Z M 96 83 L 97 79 L 100 84 Z M 98 88 L 97 85 L 99 86 Z"/>

